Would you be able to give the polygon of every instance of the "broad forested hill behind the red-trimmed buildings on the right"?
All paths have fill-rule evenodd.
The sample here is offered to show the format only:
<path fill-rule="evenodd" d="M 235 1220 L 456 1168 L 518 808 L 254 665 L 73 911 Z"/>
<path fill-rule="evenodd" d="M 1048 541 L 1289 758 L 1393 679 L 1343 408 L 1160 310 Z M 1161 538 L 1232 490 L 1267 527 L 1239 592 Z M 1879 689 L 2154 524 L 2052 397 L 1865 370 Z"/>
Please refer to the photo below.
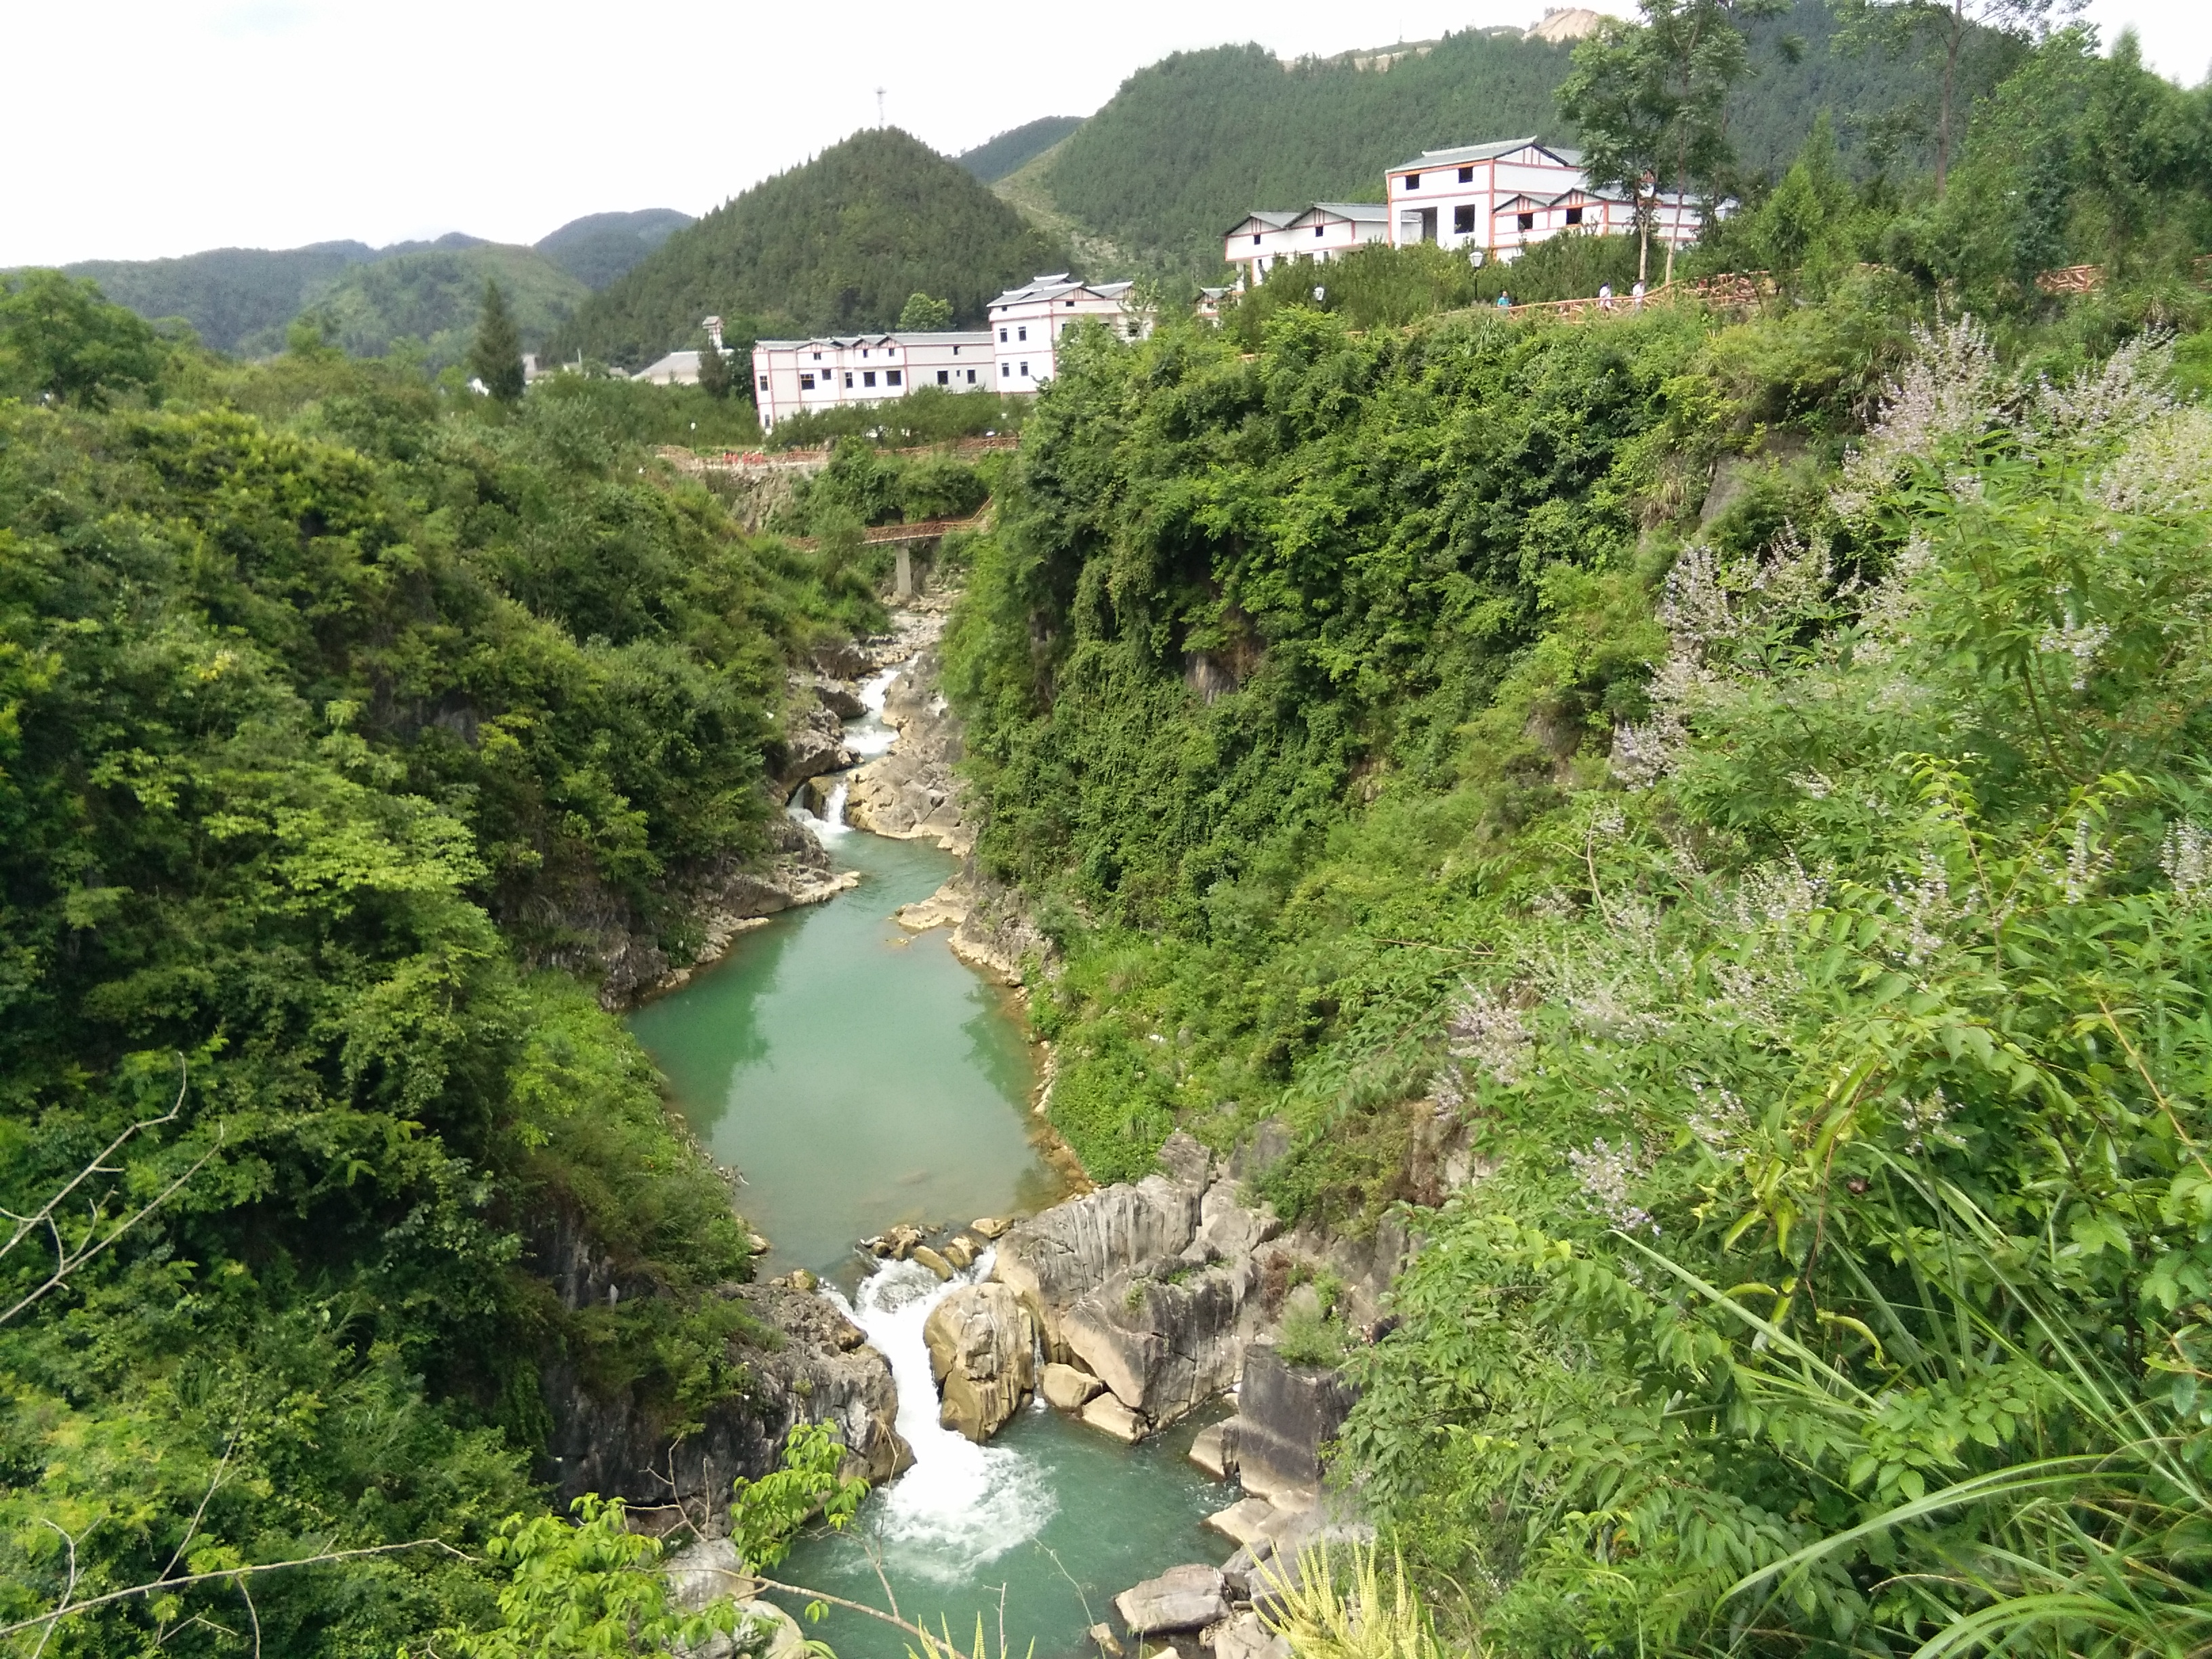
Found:
<path fill-rule="evenodd" d="M 1933 71 L 1836 53 L 1834 33 L 1827 0 L 1801 0 L 1752 31 L 1756 73 L 1730 104 L 1745 168 L 1785 164 L 1823 108 L 1847 159 L 1874 115 L 1933 108 Z M 1515 29 L 1471 29 L 1387 69 L 1360 69 L 1374 60 L 1358 53 L 1285 66 L 1256 44 L 1175 53 L 1130 75 L 1066 139 L 1044 188 L 1060 212 L 1115 246 L 1210 272 L 1223 228 L 1248 208 L 1378 201 L 1383 168 L 1444 144 L 1522 133 L 1573 142 L 1553 102 L 1571 51 Z M 1975 38 L 1962 108 L 2006 60 L 1995 38 Z"/>

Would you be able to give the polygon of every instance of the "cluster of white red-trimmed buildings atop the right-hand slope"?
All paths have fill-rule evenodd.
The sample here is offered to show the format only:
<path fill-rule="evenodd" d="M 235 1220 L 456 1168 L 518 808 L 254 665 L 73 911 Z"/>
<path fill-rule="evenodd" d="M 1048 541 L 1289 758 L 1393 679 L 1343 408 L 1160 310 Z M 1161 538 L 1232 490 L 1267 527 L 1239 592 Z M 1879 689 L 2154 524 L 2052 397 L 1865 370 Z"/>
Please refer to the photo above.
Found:
<path fill-rule="evenodd" d="M 1562 232 L 1626 234 L 1637 204 L 1590 188 L 1582 155 L 1533 137 L 1425 150 L 1383 175 L 1385 201 L 1316 201 L 1305 212 L 1263 210 L 1237 221 L 1221 257 L 1256 285 L 1283 259 L 1327 261 L 1367 241 L 1411 248 L 1433 241 L 1478 259 L 1517 259 L 1522 248 Z M 1694 201 L 1659 195 L 1652 241 L 1697 241 Z"/>

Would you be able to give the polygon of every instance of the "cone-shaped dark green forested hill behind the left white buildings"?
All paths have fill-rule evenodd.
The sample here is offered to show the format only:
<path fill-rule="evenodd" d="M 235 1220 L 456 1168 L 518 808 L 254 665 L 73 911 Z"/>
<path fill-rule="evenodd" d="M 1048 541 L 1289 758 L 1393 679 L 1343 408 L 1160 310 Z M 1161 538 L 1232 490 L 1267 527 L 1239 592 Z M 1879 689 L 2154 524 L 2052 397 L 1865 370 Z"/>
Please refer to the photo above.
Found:
<path fill-rule="evenodd" d="M 898 128 L 872 128 L 668 237 L 549 349 L 635 369 L 692 345 L 701 316 L 728 319 L 737 338 L 745 327 L 889 327 L 916 292 L 949 299 L 973 325 L 1006 285 L 1064 268 L 1066 252 L 973 173 Z"/>

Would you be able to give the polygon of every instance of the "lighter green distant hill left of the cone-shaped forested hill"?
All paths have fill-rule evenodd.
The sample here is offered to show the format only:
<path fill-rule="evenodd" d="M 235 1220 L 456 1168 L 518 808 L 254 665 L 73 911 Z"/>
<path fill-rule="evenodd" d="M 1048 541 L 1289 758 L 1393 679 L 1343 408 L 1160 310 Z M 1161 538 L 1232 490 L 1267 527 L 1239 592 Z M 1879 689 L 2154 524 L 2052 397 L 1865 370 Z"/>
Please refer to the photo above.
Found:
<path fill-rule="evenodd" d="M 354 356 L 385 356 L 394 341 L 418 341 L 427 365 L 442 369 L 469 349 L 487 279 L 507 294 L 524 347 L 538 347 L 591 294 L 535 248 L 467 241 L 462 248 L 438 246 L 349 265 L 316 288 L 301 314 L 323 327 L 325 341 Z M 250 334 L 241 349 L 257 356 L 281 352 L 283 336 L 283 325 L 276 325 Z"/>

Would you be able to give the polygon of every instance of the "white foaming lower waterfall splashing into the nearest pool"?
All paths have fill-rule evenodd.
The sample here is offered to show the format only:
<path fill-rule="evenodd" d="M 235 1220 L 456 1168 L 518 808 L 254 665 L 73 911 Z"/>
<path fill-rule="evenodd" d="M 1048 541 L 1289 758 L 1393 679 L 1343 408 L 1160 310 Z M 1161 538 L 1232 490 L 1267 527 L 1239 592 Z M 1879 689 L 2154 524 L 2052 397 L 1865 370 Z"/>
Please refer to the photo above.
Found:
<path fill-rule="evenodd" d="M 869 1274 L 852 1303 L 827 1294 L 867 1332 L 891 1363 L 898 1385 L 898 1431 L 914 1447 L 914 1467 L 872 1500 L 863 1526 L 883 1553 L 896 1584 L 969 1584 L 975 1573 L 1044 1531 L 1060 1509 L 1031 1458 L 1004 1447 L 978 1447 L 958 1429 L 938 1425 L 938 1385 L 929 1374 L 922 1323 L 958 1285 L 982 1281 L 991 1252 L 973 1267 L 940 1283 L 914 1261 L 887 1261 Z"/>

